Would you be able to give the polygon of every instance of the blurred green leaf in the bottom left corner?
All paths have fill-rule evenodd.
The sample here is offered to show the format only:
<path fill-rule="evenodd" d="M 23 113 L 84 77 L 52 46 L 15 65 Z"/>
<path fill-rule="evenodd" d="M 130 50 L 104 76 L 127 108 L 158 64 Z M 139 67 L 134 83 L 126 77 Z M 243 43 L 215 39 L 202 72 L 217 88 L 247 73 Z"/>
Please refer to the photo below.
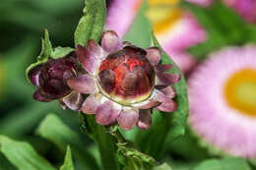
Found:
<path fill-rule="evenodd" d="M 28 142 L 16 142 L 0 136 L 1 152 L 20 170 L 54 170 L 55 168 L 39 156 Z"/>

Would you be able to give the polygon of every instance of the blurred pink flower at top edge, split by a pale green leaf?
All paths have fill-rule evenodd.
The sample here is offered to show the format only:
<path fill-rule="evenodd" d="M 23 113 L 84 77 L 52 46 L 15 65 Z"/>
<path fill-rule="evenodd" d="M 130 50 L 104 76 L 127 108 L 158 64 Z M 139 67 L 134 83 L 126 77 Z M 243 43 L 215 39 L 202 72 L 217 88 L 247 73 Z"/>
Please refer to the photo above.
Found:
<path fill-rule="evenodd" d="M 149 0 L 146 15 L 153 24 L 163 49 L 169 55 L 174 53 L 170 57 L 181 71 L 187 72 L 196 62 L 185 50 L 203 42 L 206 32 L 191 13 L 179 8 L 178 3 L 178 0 Z M 134 21 L 141 4 L 141 0 L 113 0 L 108 9 L 105 28 L 116 29 L 123 36 Z"/>

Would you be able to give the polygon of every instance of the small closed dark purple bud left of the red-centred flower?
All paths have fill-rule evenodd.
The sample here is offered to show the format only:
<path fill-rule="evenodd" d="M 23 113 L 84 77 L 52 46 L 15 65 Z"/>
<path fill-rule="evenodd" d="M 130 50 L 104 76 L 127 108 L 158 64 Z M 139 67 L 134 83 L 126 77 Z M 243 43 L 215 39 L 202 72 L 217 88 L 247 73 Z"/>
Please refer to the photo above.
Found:
<path fill-rule="evenodd" d="M 78 64 L 75 52 L 59 59 L 49 58 L 45 63 L 35 66 L 29 72 L 29 79 L 38 89 L 33 98 L 41 102 L 58 99 L 62 106 L 78 110 L 82 95 L 67 85 L 69 79 L 77 75 Z"/>

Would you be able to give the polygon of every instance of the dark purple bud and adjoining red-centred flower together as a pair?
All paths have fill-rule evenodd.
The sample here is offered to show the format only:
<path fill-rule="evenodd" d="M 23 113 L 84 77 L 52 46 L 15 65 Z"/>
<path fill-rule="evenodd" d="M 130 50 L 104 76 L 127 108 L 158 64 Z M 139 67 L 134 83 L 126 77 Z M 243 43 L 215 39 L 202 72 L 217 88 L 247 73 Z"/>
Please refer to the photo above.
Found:
<path fill-rule="evenodd" d="M 118 122 L 124 130 L 135 125 L 148 129 L 153 108 L 177 108 L 171 85 L 180 75 L 167 73 L 172 65 L 160 65 L 160 57 L 159 48 L 122 43 L 115 31 L 107 30 L 101 46 L 91 39 L 86 47 L 78 45 L 76 53 L 33 68 L 29 77 L 38 86 L 33 97 L 43 102 L 59 99 L 73 110 L 95 114 L 103 126 Z M 77 58 L 86 74 L 78 72 Z M 81 93 L 90 94 L 84 102 Z"/>

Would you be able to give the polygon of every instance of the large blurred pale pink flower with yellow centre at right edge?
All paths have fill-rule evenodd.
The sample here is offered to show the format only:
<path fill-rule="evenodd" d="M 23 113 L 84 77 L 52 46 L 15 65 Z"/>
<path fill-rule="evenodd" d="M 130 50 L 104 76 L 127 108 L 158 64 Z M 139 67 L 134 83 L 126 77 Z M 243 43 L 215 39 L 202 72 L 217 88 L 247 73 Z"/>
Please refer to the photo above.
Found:
<path fill-rule="evenodd" d="M 226 153 L 256 156 L 256 46 L 210 55 L 188 80 L 189 122 Z"/>

